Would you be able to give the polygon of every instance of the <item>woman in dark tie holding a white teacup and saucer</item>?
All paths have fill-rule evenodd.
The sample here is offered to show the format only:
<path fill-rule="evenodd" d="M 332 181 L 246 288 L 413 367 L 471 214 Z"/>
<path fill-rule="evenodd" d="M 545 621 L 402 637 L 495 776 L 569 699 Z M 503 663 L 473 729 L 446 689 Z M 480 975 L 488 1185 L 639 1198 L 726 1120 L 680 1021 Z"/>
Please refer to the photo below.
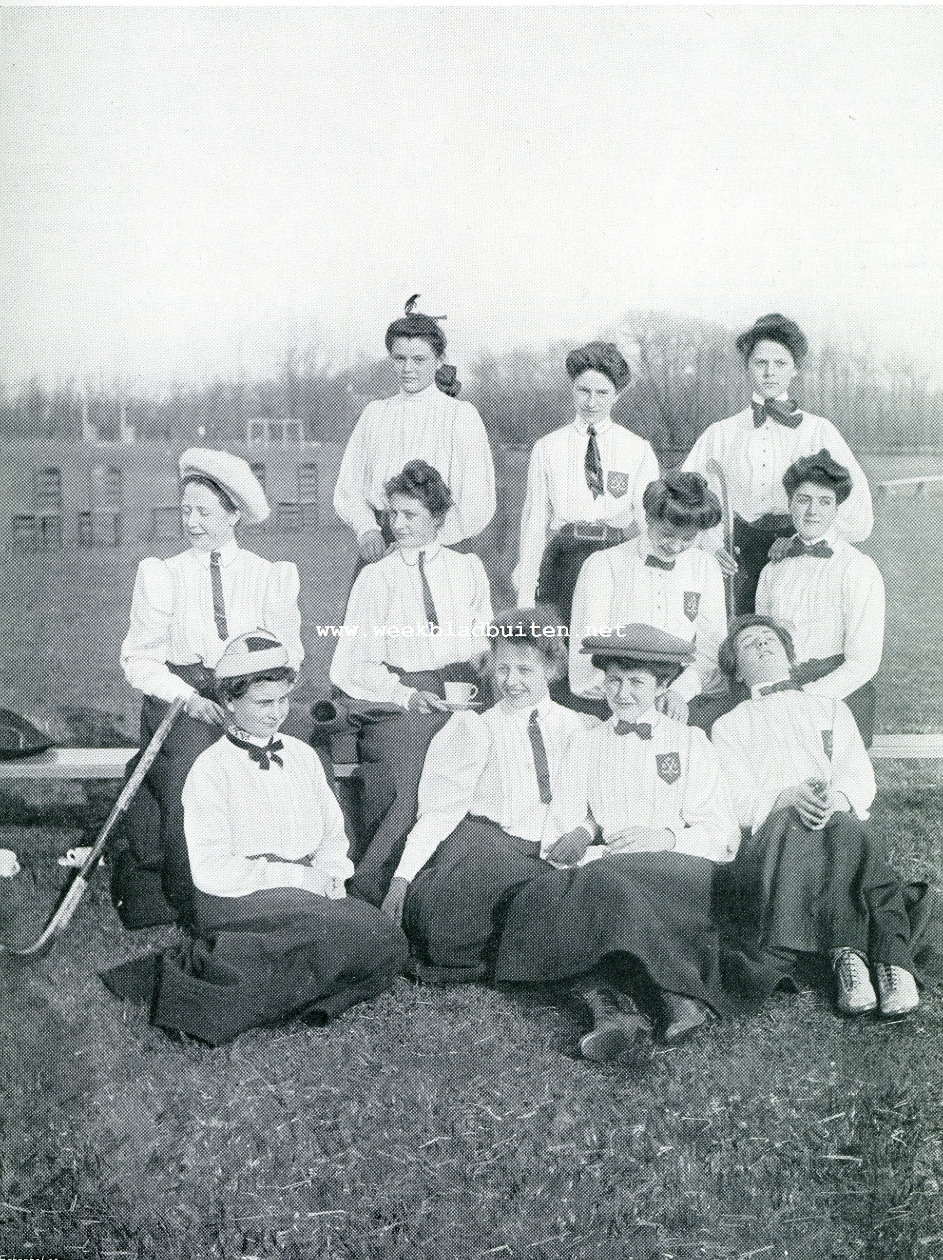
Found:
<path fill-rule="evenodd" d="M 448 717 L 446 683 L 477 685 L 491 620 L 483 564 L 438 541 L 452 505 L 438 471 L 410 460 L 384 489 L 395 549 L 358 575 L 330 669 L 353 699 L 402 711 L 397 721 L 365 727 L 359 741 L 358 840 L 366 852 L 351 888 L 378 906 L 393 847 L 415 820 L 426 748 Z"/>

